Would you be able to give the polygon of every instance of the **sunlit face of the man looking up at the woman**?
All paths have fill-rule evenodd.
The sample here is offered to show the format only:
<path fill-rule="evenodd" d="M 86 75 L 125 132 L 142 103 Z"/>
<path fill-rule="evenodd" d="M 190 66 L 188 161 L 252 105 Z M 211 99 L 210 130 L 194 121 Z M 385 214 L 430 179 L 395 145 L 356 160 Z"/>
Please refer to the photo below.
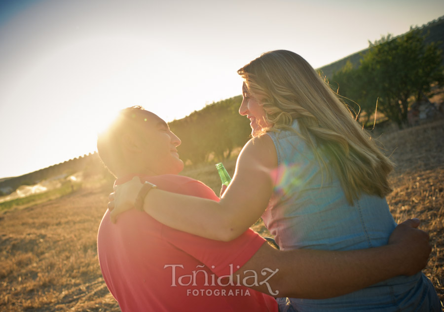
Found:
<path fill-rule="evenodd" d="M 157 115 L 148 111 L 137 112 L 137 115 L 141 118 L 141 126 L 138 127 L 140 131 L 134 135 L 134 140 L 138 145 L 135 157 L 143 171 L 140 173 L 160 175 L 181 172 L 184 162 L 179 158 L 176 149 L 181 140 Z"/>

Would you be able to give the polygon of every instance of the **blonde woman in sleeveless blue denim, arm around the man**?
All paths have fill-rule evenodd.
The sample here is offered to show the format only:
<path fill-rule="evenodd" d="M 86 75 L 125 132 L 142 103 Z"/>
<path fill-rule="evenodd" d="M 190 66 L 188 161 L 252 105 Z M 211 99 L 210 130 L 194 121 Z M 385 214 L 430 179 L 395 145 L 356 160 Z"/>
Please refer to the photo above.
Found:
<path fill-rule="evenodd" d="M 393 168 L 315 70 L 296 53 L 262 54 L 238 71 L 239 113 L 251 139 L 219 202 L 151 190 L 144 209 L 172 228 L 232 240 L 260 216 L 282 250 L 353 250 L 387 243 L 396 227 L 385 196 Z M 116 191 L 115 217 L 141 189 Z M 120 193 L 120 194 L 119 194 Z M 292 311 L 440 311 L 422 273 L 322 300 L 278 299 Z"/>

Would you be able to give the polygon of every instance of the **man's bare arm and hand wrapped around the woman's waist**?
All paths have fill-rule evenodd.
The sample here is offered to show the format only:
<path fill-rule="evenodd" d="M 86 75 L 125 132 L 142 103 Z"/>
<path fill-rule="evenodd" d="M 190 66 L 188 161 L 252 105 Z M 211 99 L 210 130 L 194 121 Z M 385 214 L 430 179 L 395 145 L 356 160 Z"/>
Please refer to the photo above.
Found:
<path fill-rule="evenodd" d="M 431 247 L 428 234 L 415 229 L 418 225 L 417 219 L 407 220 L 394 230 L 388 245 L 362 250 L 279 251 L 264 243 L 234 274 L 245 280 L 246 286 L 274 297 L 340 296 L 422 270 Z"/>

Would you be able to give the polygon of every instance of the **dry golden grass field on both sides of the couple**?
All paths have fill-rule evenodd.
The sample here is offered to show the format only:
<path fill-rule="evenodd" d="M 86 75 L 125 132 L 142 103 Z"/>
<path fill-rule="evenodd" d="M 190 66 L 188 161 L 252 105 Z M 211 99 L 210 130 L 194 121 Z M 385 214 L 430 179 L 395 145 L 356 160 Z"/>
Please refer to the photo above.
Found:
<path fill-rule="evenodd" d="M 433 246 L 424 273 L 444 300 L 444 120 L 379 137 L 398 164 L 388 196 L 397 221 L 422 220 Z M 234 160 L 225 163 L 232 173 Z M 185 170 L 214 190 L 214 165 Z M 0 215 L 0 311 L 120 311 L 100 273 L 96 234 L 111 185 L 84 183 L 70 195 Z M 258 223 L 255 229 L 265 233 Z"/>

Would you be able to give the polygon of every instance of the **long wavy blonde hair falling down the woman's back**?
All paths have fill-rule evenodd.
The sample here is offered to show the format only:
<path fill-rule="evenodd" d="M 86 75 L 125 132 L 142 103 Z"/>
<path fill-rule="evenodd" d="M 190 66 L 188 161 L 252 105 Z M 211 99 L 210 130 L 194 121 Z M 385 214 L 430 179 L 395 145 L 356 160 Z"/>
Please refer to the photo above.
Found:
<path fill-rule="evenodd" d="M 238 74 L 273 124 L 264 131 L 295 131 L 291 124 L 296 119 L 297 134 L 328 176 L 335 171 L 350 204 L 362 192 L 384 197 L 392 191 L 387 177 L 393 163 L 301 56 L 286 50 L 266 52 Z"/>

